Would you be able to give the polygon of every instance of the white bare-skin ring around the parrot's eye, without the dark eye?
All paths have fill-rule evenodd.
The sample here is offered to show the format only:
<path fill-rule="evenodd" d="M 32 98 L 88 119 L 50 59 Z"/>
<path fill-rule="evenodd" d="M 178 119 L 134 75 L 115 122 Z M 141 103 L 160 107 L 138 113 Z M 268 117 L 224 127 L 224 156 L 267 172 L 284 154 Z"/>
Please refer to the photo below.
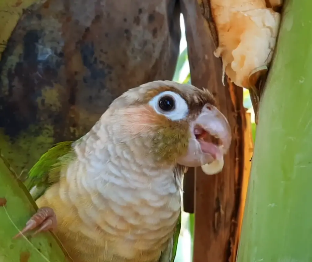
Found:
<path fill-rule="evenodd" d="M 159 101 L 163 97 L 171 97 L 174 101 L 174 107 L 170 111 L 164 111 L 159 107 Z M 172 121 L 178 121 L 184 119 L 188 115 L 188 104 L 186 101 L 177 93 L 172 91 L 164 91 L 157 96 L 154 96 L 150 101 L 149 105 L 153 107 L 156 113 L 164 115 Z"/>

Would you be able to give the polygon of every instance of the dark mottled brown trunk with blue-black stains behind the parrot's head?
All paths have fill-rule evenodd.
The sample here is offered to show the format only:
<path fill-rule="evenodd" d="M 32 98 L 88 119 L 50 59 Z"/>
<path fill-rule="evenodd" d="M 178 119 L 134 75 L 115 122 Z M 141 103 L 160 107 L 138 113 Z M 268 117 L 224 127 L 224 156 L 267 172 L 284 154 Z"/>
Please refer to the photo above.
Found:
<path fill-rule="evenodd" d="M 18 173 L 84 135 L 124 91 L 173 77 L 174 0 L 47 0 L 23 13 L 0 62 L 0 145 Z"/>

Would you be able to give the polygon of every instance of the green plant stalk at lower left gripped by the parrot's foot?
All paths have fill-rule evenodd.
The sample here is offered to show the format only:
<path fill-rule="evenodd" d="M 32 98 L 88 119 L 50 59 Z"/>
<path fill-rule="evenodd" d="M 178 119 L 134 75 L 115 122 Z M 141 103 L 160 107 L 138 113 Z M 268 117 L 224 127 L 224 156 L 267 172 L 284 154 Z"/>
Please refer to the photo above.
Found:
<path fill-rule="evenodd" d="M 23 183 L 0 152 L 0 261 L 71 261 L 60 241 L 50 232 L 12 239 L 38 209 Z"/>

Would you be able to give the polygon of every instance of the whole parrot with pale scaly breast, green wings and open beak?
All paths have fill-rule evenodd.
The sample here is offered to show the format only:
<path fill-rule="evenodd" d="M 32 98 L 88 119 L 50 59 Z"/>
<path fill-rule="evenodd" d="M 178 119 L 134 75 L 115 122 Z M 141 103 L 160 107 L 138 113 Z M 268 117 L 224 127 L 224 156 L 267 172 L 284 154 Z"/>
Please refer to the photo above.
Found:
<path fill-rule="evenodd" d="M 183 175 L 220 172 L 231 139 L 208 89 L 169 80 L 131 88 L 29 170 L 38 210 L 14 238 L 52 231 L 75 262 L 173 262 Z"/>

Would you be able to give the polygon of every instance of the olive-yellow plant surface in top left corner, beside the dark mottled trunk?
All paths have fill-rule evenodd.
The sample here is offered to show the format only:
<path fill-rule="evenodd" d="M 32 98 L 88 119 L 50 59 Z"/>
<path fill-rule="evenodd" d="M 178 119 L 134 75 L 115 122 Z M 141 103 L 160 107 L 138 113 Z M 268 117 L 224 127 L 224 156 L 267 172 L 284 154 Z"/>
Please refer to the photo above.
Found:
<path fill-rule="evenodd" d="M 7 41 L 18 20 L 27 7 L 42 0 L 1 0 L 0 1 L 0 60 Z"/>

